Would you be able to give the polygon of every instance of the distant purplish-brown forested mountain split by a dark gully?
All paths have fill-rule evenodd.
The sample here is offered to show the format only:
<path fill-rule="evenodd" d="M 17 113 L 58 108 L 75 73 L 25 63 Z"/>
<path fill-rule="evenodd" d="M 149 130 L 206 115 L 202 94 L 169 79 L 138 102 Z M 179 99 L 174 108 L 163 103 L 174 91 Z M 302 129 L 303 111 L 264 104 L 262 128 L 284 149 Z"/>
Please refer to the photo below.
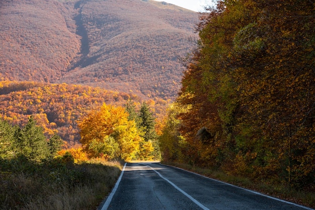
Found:
<path fill-rule="evenodd" d="M 49 11 L 49 12 L 47 12 Z M 150 0 L 0 3 L 0 80 L 176 96 L 198 14 Z"/>

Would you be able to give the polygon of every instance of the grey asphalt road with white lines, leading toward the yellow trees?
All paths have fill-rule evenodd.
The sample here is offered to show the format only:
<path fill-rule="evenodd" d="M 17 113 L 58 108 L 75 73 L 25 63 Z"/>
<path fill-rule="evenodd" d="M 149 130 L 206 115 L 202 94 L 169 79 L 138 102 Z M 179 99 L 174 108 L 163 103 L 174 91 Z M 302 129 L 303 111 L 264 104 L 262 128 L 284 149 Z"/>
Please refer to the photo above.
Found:
<path fill-rule="evenodd" d="M 105 201 L 102 210 L 310 209 L 160 163 L 127 163 Z"/>

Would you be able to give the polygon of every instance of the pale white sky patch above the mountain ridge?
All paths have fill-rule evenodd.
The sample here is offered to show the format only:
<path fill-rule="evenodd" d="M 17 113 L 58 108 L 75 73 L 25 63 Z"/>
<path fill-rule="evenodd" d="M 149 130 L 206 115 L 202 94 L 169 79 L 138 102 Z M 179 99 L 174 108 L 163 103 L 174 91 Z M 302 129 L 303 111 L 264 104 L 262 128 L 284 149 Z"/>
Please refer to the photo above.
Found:
<path fill-rule="evenodd" d="M 212 2 L 211 0 L 155 0 L 155 1 L 167 2 L 195 12 L 204 11 L 203 10 L 204 6 L 209 5 Z"/>

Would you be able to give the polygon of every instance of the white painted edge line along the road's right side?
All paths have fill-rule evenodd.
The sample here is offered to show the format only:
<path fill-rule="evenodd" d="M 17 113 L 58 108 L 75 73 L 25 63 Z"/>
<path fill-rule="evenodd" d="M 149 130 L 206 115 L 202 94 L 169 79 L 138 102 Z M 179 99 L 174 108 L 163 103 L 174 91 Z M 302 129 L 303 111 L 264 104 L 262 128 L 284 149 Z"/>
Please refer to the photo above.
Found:
<path fill-rule="evenodd" d="M 161 165 L 165 165 L 163 163 L 160 163 Z M 183 170 L 183 171 L 186 171 L 186 172 L 189 172 L 189 173 L 193 173 L 193 174 L 196 174 L 198 176 L 202 176 L 204 178 L 207 178 L 207 179 L 210 179 L 210 180 L 213 180 L 213 181 L 217 181 L 217 182 L 220 182 L 220 183 L 223 183 L 223 184 L 227 184 L 229 186 L 233 186 L 233 187 L 236 187 L 236 188 L 239 188 L 239 189 L 244 189 L 245 191 L 248 191 L 248 192 L 252 192 L 254 194 L 258 194 L 258 195 L 261 195 L 261 196 L 264 196 L 264 197 L 268 197 L 270 199 L 274 199 L 274 200 L 277 200 L 277 201 L 281 201 L 281 202 L 284 202 L 284 203 L 287 203 L 287 204 L 291 204 L 291 205 L 294 205 L 294 206 L 297 206 L 297 207 L 300 207 L 300 208 L 304 208 L 304 209 L 307 209 L 307 210 L 315 210 L 314 208 L 310 208 L 310 207 L 307 207 L 307 206 L 304 206 L 304 205 L 300 205 L 300 204 L 297 204 L 297 203 L 294 203 L 294 202 L 290 202 L 290 201 L 287 201 L 287 200 L 282 200 L 280 198 L 276 198 L 276 197 L 272 197 L 270 195 L 266 195 L 266 194 L 263 194 L 261 192 L 257 192 L 257 191 L 254 191 L 254 190 L 251 190 L 251 189 L 246 189 L 244 187 L 239 187 L 237 185 L 233 185 L 233 184 L 230 184 L 230 183 L 227 183 L 227 182 L 224 182 L 224 181 L 220 181 L 220 180 L 217 180 L 217 179 L 214 179 L 214 178 L 210 178 L 210 177 L 207 177 L 207 176 L 204 176 L 204 175 L 201 175 L 201 174 L 198 174 L 198 173 L 195 173 L 195 172 L 192 172 L 192 171 L 188 171 L 186 169 L 183 169 L 183 168 L 179 168 L 179 167 L 176 167 L 176 166 L 172 166 L 172 165 L 165 165 L 165 166 L 170 166 L 170 167 L 173 167 L 173 168 L 177 168 L 177 169 L 180 169 L 180 170 Z"/>

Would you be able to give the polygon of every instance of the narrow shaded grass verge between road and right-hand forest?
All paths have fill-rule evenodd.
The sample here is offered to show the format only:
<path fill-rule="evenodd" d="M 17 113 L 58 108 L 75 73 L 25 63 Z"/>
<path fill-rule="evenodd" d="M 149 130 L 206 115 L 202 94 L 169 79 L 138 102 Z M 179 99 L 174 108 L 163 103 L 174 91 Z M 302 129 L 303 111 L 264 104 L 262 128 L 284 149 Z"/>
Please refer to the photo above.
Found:
<path fill-rule="evenodd" d="M 206 177 L 210 177 L 213 179 L 217 179 L 223 182 L 227 182 L 236 186 L 240 186 L 243 188 L 255 190 L 257 192 L 261 192 L 263 194 L 277 197 L 283 200 L 287 200 L 290 202 L 294 202 L 300 205 L 304 205 L 307 207 L 315 208 L 315 192 L 314 191 L 296 191 L 290 190 L 289 187 L 279 185 L 279 184 L 270 184 L 268 182 L 259 182 L 255 180 L 251 180 L 246 177 L 232 176 L 227 175 L 219 170 L 212 170 L 206 168 L 194 167 L 189 164 L 177 163 L 177 162 L 165 162 L 162 161 L 163 164 L 175 166 L 178 168 L 183 168 L 188 171 L 192 171 Z"/>

